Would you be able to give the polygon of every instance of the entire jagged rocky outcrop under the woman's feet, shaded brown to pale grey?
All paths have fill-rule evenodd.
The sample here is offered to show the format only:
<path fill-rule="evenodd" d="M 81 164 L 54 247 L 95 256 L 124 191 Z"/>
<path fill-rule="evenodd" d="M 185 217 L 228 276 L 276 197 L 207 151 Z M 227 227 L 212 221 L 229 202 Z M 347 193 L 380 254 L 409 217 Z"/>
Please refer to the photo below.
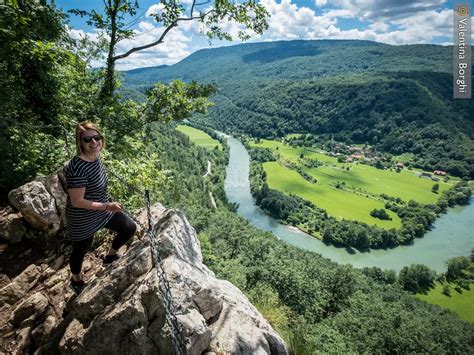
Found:
<path fill-rule="evenodd" d="M 159 292 L 164 275 L 187 354 L 286 354 L 282 339 L 245 295 L 203 264 L 184 214 L 158 204 L 152 216 L 154 244 L 140 228 L 141 238 L 112 265 L 104 268 L 98 258 L 105 246 L 87 255 L 87 286 L 77 298 L 68 289 L 69 270 L 60 255 L 30 265 L 2 288 L 5 344 L 0 350 L 173 354 L 173 332 Z M 145 224 L 145 211 L 137 220 Z M 155 251 L 161 267 L 152 257 Z"/>

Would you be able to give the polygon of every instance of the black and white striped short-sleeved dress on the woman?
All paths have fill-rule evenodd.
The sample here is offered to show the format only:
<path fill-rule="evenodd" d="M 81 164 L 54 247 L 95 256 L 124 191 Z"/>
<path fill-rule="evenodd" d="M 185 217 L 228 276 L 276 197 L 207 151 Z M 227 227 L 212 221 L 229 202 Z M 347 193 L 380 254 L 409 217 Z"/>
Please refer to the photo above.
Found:
<path fill-rule="evenodd" d="M 85 187 L 84 199 L 109 202 L 107 171 L 100 158 L 93 162 L 72 158 L 64 168 L 67 188 Z M 69 238 L 80 241 L 94 236 L 112 217 L 112 212 L 77 208 L 71 204 L 69 195 L 66 204 L 66 219 Z"/>

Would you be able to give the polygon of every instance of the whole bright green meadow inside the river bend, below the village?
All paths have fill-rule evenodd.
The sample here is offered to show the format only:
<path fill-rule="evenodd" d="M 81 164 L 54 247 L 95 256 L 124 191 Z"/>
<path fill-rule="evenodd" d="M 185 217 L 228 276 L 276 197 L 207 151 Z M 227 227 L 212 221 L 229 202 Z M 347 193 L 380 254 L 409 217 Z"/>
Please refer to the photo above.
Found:
<path fill-rule="evenodd" d="M 385 201 L 380 197 L 381 194 L 429 204 L 436 203 L 443 191 L 451 187 L 451 183 L 439 181 L 436 194 L 431 191 L 435 182 L 418 177 L 416 172 L 403 169 L 397 173 L 395 170 L 381 170 L 357 162 L 338 163 L 336 158 L 311 148 L 291 147 L 278 141 L 262 139 L 258 144 L 251 143 L 251 146 L 272 149 L 280 160 L 296 163 L 317 180 L 316 184 L 311 184 L 296 171 L 277 162 L 268 162 L 263 167 L 270 188 L 311 201 L 333 217 L 358 220 L 385 229 L 400 227 L 401 220 L 391 211 L 387 211 L 392 217 L 391 221 L 370 216 L 373 209 L 384 208 Z M 304 158 L 317 159 L 323 165 L 307 168 L 301 164 L 301 154 Z M 336 188 L 336 183 L 343 183 L 342 189 Z"/>

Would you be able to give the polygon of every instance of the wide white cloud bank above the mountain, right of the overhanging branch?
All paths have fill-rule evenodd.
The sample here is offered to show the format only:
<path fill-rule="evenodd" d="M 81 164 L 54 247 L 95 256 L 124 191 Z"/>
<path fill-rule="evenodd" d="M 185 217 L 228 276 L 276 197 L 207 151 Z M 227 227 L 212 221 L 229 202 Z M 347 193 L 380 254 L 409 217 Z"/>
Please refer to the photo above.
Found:
<path fill-rule="evenodd" d="M 360 39 L 399 45 L 431 43 L 434 37 L 450 36 L 452 33 L 452 10 L 449 9 L 415 11 L 410 15 L 406 14 L 403 18 L 397 17 L 385 21 L 369 18 L 360 22 L 356 17 L 361 11 L 370 13 L 376 7 L 373 0 L 333 0 L 332 4 L 349 4 L 349 8 L 323 11 L 319 16 L 312 9 L 298 7 L 291 0 L 281 0 L 280 3 L 276 1 L 261 0 L 261 4 L 272 16 L 269 19 L 268 31 L 254 40 Z M 440 1 L 413 2 L 420 8 L 428 8 L 430 4 L 437 4 Z M 396 7 L 395 1 L 382 0 L 381 4 Z M 361 10 L 355 11 L 355 5 L 360 5 Z M 354 28 L 339 28 L 338 19 L 342 18 L 355 18 Z"/>

